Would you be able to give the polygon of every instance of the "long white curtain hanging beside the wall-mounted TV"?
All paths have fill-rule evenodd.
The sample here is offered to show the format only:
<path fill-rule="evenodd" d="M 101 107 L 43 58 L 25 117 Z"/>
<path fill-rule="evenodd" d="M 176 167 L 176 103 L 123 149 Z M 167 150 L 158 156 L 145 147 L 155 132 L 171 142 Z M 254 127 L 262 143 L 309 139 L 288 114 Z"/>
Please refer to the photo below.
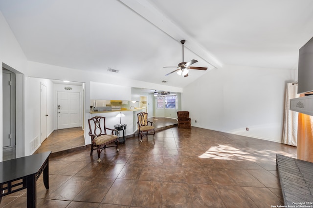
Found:
<path fill-rule="evenodd" d="M 298 133 L 298 112 L 290 111 L 290 99 L 297 98 L 298 85 L 295 83 L 287 83 L 285 95 L 285 118 L 283 130 L 283 143 L 297 146 Z"/>

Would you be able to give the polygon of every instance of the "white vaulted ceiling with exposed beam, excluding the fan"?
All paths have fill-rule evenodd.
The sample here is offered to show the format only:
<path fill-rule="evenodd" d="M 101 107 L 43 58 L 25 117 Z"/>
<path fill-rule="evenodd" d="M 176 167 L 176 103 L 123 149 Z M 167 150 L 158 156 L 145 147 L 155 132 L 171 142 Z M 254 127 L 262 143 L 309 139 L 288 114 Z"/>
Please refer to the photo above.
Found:
<path fill-rule="evenodd" d="M 184 87 L 224 64 L 296 69 L 313 0 L 0 0 L 28 60 Z M 164 76 L 196 59 L 188 77 Z"/>

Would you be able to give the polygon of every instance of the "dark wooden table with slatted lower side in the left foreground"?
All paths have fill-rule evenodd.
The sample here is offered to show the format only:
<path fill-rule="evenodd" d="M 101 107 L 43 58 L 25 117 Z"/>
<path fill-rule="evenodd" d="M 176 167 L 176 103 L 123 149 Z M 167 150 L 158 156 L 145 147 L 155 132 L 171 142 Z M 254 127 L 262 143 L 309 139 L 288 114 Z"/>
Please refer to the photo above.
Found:
<path fill-rule="evenodd" d="M 44 172 L 49 189 L 49 156 L 51 151 L 0 162 L 0 203 L 2 196 L 27 189 L 27 208 L 36 208 L 36 181 Z"/>

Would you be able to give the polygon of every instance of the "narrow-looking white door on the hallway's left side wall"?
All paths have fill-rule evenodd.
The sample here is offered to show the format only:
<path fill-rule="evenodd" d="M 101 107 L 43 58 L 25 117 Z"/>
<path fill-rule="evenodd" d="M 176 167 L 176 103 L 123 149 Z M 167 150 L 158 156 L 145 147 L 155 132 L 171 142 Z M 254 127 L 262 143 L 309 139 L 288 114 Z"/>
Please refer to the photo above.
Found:
<path fill-rule="evenodd" d="M 47 88 L 40 84 L 40 141 L 47 137 Z"/>

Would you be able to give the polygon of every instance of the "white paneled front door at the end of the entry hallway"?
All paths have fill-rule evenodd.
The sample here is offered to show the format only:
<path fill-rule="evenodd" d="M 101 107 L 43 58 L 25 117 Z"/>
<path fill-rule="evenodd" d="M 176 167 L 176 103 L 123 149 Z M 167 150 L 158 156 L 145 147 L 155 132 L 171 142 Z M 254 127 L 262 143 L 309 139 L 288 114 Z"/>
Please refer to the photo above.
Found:
<path fill-rule="evenodd" d="M 79 93 L 58 92 L 58 129 L 67 129 L 79 126 Z"/>

